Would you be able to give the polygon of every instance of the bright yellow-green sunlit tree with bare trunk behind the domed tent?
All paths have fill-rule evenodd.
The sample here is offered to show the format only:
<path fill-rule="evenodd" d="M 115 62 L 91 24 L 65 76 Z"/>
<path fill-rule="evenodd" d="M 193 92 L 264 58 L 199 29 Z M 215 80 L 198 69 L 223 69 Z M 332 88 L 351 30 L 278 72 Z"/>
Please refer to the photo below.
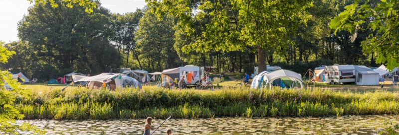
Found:
<path fill-rule="evenodd" d="M 191 41 L 184 52 L 235 51 L 257 47 L 259 70 L 265 70 L 266 49 L 285 45 L 295 26 L 306 22 L 310 0 L 147 0 L 159 16 L 178 16 L 177 31 Z M 275 43 L 279 42 L 279 43 Z"/>

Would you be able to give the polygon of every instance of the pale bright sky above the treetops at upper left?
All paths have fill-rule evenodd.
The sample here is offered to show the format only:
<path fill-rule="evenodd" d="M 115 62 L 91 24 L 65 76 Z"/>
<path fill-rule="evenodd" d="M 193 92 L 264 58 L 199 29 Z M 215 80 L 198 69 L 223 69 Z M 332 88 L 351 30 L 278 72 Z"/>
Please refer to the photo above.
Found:
<path fill-rule="evenodd" d="M 114 13 L 134 12 L 143 8 L 145 0 L 100 0 L 101 5 Z M 18 22 L 32 6 L 28 0 L 0 0 L 0 40 L 5 43 L 17 41 Z"/>

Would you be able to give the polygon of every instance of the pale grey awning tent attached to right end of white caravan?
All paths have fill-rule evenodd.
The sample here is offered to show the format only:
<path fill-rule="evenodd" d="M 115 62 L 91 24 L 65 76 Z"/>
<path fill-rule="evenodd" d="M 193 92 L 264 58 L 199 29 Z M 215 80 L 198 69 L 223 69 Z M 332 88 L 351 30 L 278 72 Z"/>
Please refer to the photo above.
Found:
<path fill-rule="evenodd" d="M 354 66 L 356 72 L 356 84 L 357 85 L 378 85 L 379 73 L 374 71 L 372 68 L 366 66 Z"/>

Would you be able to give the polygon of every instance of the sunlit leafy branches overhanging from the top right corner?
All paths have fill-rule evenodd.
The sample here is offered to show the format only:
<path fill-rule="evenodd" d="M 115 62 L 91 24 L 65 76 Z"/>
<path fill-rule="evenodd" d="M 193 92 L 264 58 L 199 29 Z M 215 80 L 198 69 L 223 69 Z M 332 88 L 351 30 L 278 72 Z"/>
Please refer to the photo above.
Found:
<path fill-rule="evenodd" d="M 363 52 L 376 53 L 377 63 L 387 63 L 392 70 L 399 67 L 399 0 L 354 0 L 345 10 L 331 20 L 335 33 L 350 32 L 355 41 L 361 30 L 375 31 L 362 41 Z M 367 25 L 367 26 L 364 26 Z"/>

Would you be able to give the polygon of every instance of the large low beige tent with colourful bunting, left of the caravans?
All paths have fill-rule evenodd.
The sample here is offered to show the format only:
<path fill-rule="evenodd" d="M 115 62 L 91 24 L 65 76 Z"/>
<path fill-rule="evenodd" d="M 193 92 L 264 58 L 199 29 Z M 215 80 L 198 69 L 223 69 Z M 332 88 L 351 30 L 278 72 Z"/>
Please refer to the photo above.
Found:
<path fill-rule="evenodd" d="M 72 78 L 74 82 L 88 81 L 89 88 L 104 87 L 104 83 L 112 90 L 129 86 L 142 88 L 139 81 L 121 73 L 101 73 L 95 76 L 72 75 Z"/>

